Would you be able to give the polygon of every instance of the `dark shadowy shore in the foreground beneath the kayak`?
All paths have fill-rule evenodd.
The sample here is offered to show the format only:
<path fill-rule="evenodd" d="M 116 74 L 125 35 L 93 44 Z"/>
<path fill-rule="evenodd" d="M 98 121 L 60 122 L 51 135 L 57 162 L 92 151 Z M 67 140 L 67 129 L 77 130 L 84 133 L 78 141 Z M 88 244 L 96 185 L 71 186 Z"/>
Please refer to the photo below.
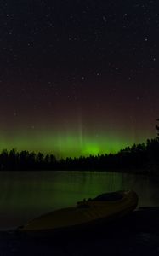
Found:
<path fill-rule="evenodd" d="M 140 208 L 99 230 L 43 236 L 0 232 L 5 255 L 159 255 L 159 207 Z"/>

